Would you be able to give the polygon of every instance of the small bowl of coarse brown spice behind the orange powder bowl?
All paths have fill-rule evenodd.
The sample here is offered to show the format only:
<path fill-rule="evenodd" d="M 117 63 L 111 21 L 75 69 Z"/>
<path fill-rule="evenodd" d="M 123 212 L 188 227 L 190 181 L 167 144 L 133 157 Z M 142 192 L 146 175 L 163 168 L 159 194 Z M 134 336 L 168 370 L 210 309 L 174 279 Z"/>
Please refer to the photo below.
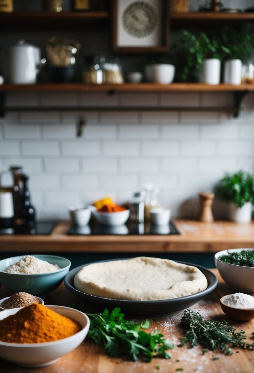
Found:
<path fill-rule="evenodd" d="M 26 307 L 33 303 L 44 304 L 43 299 L 35 297 L 24 291 L 13 294 L 11 297 L 6 297 L 0 300 L 0 310 L 10 310 L 11 308 Z"/>

